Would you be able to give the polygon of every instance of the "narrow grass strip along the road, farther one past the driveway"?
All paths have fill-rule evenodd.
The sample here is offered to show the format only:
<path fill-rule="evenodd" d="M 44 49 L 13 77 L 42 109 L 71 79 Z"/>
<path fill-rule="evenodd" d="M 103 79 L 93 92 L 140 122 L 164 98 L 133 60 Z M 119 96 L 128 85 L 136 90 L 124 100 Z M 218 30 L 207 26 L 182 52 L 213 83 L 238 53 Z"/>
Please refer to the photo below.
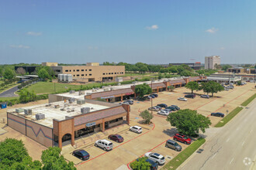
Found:
<path fill-rule="evenodd" d="M 248 104 L 251 103 L 252 100 L 254 100 L 254 98 L 256 97 L 256 93 L 254 93 L 254 95 L 252 95 L 250 98 L 248 98 L 247 100 L 244 101 L 243 104 L 241 104 L 242 106 L 246 107 Z M 225 124 L 227 124 L 227 122 L 229 122 L 233 117 L 235 117 L 240 110 L 243 110 L 243 107 L 237 107 L 234 110 L 232 110 L 230 112 L 230 114 L 227 114 L 226 117 L 224 117 L 218 124 L 216 124 L 214 127 L 215 128 L 220 128 L 223 127 Z"/>

